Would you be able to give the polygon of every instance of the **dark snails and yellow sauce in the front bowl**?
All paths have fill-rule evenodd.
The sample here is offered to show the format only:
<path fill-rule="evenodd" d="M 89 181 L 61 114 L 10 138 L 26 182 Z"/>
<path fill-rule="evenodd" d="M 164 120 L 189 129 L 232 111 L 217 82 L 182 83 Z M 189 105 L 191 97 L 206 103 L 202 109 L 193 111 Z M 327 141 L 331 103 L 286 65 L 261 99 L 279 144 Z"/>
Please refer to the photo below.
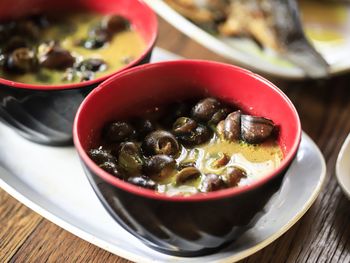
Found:
<path fill-rule="evenodd" d="M 89 150 L 100 168 L 167 195 L 249 185 L 283 159 L 273 121 L 216 98 L 152 107 L 108 123 Z"/>

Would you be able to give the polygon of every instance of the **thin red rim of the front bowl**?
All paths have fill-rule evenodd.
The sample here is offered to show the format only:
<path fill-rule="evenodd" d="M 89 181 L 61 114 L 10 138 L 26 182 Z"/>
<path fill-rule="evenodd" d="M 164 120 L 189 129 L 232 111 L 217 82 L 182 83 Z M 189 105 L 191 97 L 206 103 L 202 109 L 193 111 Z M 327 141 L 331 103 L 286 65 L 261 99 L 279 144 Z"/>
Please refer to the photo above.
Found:
<path fill-rule="evenodd" d="M 210 193 L 197 193 L 194 195 L 190 196 L 167 196 L 166 194 L 158 193 L 154 190 L 149 190 L 145 188 L 141 188 L 135 185 L 132 185 L 128 182 L 125 182 L 123 180 L 118 179 L 117 177 L 107 173 L 104 171 L 102 168 L 100 168 L 98 165 L 94 163 L 93 160 L 90 159 L 88 154 L 85 152 L 83 149 L 81 143 L 80 143 L 80 138 L 78 134 L 78 127 L 80 126 L 80 114 L 84 110 L 84 107 L 89 101 L 95 96 L 96 93 L 98 93 L 101 89 L 107 88 L 111 83 L 113 83 L 116 79 L 118 79 L 120 76 L 123 76 L 125 74 L 130 75 L 134 72 L 137 72 L 139 70 L 144 70 L 150 67 L 159 67 L 159 66 L 166 66 L 166 65 L 173 65 L 173 64 L 206 64 L 206 65 L 217 65 L 217 66 L 222 66 L 222 67 L 229 67 L 231 69 L 234 69 L 236 71 L 239 71 L 243 74 L 247 74 L 251 76 L 252 78 L 255 78 L 265 85 L 269 86 L 271 89 L 273 89 L 275 92 L 277 92 L 280 96 L 281 99 L 284 99 L 287 105 L 290 107 L 290 109 L 293 112 L 293 115 L 296 117 L 297 123 L 296 123 L 296 129 L 297 129 L 297 136 L 294 140 L 294 143 L 289 151 L 289 153 L 285 156 L 285 158 L 282 160 L 280 166 L 275 169 L 273 172 L 269 173 L 268 175 L 264 176 L 263 178 L 255 181 L 254 183 L 246 186 L 240 186 L 240 187 L 233 187 L 233 188 L 228 188 L 228 189 L 223 189 L 219 191 L 214 191 Z M 80 158 L 82 161 L 87 165 L 89 169 L 92 170 L 94 174 L 102 178 L 104 181 L 110 183 L 111 185 L 118 187 L 124 191 L 130 192 L 132 194 L 136 194 L 139 196 L 143 196 L 146 198 L 150 199 L 157 199 L 157 200 L 163 200 L 163 201 L 173 201 L 173 202 L 191 202 L 191 201 L 209 201 L 209 200 L 217 200 L 221 198 L 228 198 L 232 196 L 236 196 L 239 194 L 242 194 L 247 191 L 251 191 L 253 189 L 258 188 L 259 186 L 262 186 L 269 180 L 273 179 L 274 177 L 278 176 L 281 174 L 285 169 L 288 168 L 289 164 L 293 161 L 297 150 L 299 148 L 299 144 L 301 141 L 301 123 L 299 119 L 299 115 L 297 110 L 295 109 L 294 105 L 290 101 L 290 99 L 285 95 L 279 88 L 277 88 L 274 84 L 272 84 L 270 81 L 266 80 L 265 78 L 248 71 L 246 69 L 242 69 L 237 66 L 225 64 L 225 63 L 220 63 L 220 62 L 213 62 L 213 61 L 206 61 L 206 60 L 175 60 L 175 61 L 165 61 L 165 62 L 157 62 L 157 63 L 151 63 L 151 64 L 145 64 L 141 66 L 137 66 L 131 69 L 128 69 L 122 73 L 118 73 L 114 75 L 112 78 L 109 78 L 108 80 L 104 81 L 101 83 L 96 89 L 94 89 L 82 102 L 80 105 L 75 120 L 74 120 L 74 127 L 73 127 L 73 140 L 75 147 L 78 151 L 78 154 L 80 155 Z"/>

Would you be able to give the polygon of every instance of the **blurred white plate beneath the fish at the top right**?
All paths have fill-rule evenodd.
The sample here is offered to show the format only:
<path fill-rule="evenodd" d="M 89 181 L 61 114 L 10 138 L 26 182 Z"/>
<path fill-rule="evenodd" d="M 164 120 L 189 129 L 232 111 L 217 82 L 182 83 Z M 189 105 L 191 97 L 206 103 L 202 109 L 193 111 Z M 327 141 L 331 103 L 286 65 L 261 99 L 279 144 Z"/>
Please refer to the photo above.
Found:
<path fill-rule="evenodd" d="M 272 76 L 290 79 L 306 77 L 303 70 L 272 50 L 261 50 L 249 39 L 213 36 L 174 11 L 163 0 L 145 1 L 178 30 L 234 63 Z M 311 7 L 307 5 L 310 3 L 304 3 L 302 8 L 305 31 L 316 49 L 329 63 L 330 73 L 338 74 L 350 70 L 350 5 L 333 4 L 327 7 L 321 3 L 314 3 Z M 309 15 L 310 13 L 312 15 Z M 321 35 L 323 38 L 328 35 L 332 40 L 321 41 Z"/>

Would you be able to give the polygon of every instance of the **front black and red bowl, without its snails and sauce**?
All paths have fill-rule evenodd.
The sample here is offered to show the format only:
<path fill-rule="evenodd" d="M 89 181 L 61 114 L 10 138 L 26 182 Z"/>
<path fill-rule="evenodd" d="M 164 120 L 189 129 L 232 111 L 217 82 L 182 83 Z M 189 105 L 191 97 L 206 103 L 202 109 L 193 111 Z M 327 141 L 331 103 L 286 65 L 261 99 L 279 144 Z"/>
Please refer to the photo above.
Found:
<path fill-rule="evenodd" d="M 280 129 L 281 165 L 248 186 L 169 197 L 121 181 L 89 158 L 87 151 L 100 141 L 105 123 L 198 96 L 272 119 Z M 264 213 L 297 153 L 301 127 L 291 101 L 262 77 L 232 65 L 183 60 L 138 66 L 103 82 L 80 106 L 73 135 L 92 187 L 119 224 L 158 251 L 196 256 L 232 242 Z"/>

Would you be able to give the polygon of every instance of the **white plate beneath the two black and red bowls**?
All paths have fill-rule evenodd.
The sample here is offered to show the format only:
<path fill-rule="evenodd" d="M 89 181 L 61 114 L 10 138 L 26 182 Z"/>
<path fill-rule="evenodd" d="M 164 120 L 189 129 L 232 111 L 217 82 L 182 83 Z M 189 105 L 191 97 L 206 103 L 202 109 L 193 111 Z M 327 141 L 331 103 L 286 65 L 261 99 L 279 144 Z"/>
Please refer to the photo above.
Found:
<path fill-rule="evenodd" d="M 176 58 L 156 49 L 154 60 Z M 266 214 L 239 240 L 215 254 L 180 258 L 156 252 L 119 226 L 104 210 L 80 166 L 74 148 L 26 141 L 0 123 L 0 187 L 74 235 L 137 262 L 233 262 L 264 248 L 294 225 L 318 196 L 325 162 L 303 134 L 296 159 Z"/>

